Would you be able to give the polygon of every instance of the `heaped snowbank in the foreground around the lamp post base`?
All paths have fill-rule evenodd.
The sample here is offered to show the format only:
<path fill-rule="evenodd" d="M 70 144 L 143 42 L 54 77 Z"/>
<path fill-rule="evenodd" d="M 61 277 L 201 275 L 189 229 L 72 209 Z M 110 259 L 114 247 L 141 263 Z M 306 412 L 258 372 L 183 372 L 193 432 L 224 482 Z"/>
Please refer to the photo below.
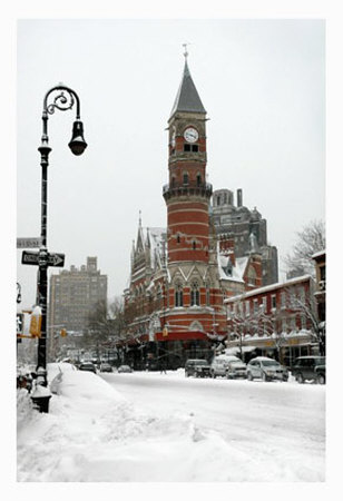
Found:
<path fill-rule="evenodd" d="M 246 458 L 192 415 L 138 412 L 101 377 L 50 365 L 48 414 L 18 391 L 18 481 L 244 481 Z M 242 454 L 242 453 L 241 453 Z M 249 480 L 258 481 L 258 468 Z M 272 480 L 272 479 L 271 479 Z"/>

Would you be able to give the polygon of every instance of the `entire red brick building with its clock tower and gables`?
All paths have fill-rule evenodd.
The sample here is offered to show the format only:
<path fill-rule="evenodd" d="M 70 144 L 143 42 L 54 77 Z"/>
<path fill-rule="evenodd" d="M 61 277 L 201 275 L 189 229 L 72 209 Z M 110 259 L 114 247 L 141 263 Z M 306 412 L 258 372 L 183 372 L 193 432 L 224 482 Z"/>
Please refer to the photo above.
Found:
<path fill-rule="evenodd" d="M 138 367 L 147 360 L 182 366 L 188 357 L 210 358 L 227 336 L 225 297 L 262 284 L 254 235 L 251 254 L 237 259 L 231 240 L 217 242 L 206 120 L 186 59 L 168 120 L 167 228 L 143 228 L 139 220 L 125 291 L 128 357 Z"/>

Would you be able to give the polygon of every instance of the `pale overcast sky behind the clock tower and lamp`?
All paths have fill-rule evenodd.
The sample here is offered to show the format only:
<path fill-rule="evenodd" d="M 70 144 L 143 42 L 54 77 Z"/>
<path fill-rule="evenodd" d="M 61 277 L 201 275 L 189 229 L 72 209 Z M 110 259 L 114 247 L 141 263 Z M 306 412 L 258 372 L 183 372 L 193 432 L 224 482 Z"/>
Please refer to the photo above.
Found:
<path fill-rule="evenodd" d="M 296 232 L 325 218 L 323 20 L 20 20 L 17 236 L 40 234 L 42 100 L 62 82 L 80 98 L 88 148 L 68 148 L 74 110 L 49 116 L 48 249 L 66 254 L 66 269 L 97 256 L 109 298 L 128 283 L 139 210 L 144 226 L 166 226 L 165 129 L 184 42 L 209 118 L 207 180 L 243 189 L 267 219 L 281 271 Z M 37 267 L 21 265 L 21 252 L 26 307 Z"/>

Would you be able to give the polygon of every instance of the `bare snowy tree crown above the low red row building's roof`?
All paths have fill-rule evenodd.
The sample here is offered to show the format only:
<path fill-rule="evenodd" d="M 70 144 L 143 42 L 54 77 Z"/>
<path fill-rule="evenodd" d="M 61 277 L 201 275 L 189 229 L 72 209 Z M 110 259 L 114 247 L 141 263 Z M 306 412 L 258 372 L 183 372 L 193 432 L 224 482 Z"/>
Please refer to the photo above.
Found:
<path fill-rule="evenodd" d="M 297 240 L 293 246 L 292 253 L 287 254 L 284 263 L 287 271 L 293 276 L 304 274 L 314 275 L 313 254 L 325 249 L 325 223 L 323 220 L 313 220 L 296 233 Z"/>

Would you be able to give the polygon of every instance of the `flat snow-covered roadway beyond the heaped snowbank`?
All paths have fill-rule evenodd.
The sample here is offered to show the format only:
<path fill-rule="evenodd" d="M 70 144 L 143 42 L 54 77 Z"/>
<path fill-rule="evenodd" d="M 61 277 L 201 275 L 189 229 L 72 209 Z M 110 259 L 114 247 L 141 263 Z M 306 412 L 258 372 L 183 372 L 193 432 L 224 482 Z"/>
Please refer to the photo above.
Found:
<path fill-rule="evenodd" d="M 323 386 L 185 379 L 184 371 L 102 377 L 149 414 L 192 416 L 196 428 L 218 433 L 235 455 L 228 479 L 324 479 Z"/>

